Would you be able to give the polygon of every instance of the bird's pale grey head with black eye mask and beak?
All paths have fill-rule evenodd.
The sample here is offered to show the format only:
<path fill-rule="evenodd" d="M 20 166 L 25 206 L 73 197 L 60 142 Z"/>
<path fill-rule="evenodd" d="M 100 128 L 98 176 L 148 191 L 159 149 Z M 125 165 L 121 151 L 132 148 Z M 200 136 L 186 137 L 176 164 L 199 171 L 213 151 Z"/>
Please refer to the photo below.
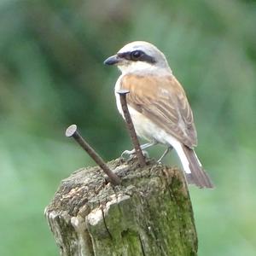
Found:
<path fill-rule="evenodd" d="M 151 72 L 159 69 L 170 71 L 166 56 L 160 49 L 144 41 L 125 44 L 122 49 L 119 49 L 116 55 L 104 61 L 104 64 L 116 65 L 122 73 Z"/>

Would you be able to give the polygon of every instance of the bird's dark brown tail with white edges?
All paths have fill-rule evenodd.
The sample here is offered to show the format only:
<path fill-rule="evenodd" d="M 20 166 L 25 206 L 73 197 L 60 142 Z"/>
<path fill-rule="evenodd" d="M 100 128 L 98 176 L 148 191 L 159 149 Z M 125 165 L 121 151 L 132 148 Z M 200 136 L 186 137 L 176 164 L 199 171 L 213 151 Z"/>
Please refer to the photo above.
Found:
<path fill-rule="evenodd" d="M 211 178 L 201 166 L 201 162 L 197 158 L 195 151 L 185 145 L 180 144 L 180 146 L 181 148 L 177 150 L 177 154 L 186 172 L 187 182 L 189 184 L 195 184 L 199 188 L 214 188 Z"/>

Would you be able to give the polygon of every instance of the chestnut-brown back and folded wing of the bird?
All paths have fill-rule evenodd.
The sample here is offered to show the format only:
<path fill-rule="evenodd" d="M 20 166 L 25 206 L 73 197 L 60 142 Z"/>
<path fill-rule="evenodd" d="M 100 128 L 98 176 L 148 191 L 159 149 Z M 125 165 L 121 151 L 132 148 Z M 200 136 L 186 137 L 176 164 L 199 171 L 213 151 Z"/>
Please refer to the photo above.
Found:
<path fill-rule="evenodd" d="M 197 144 L 193 113 L 183 87 L 174 76 L 127 74 L 121 89 L 130 90 L 127 103 L 189 148 Z"/>

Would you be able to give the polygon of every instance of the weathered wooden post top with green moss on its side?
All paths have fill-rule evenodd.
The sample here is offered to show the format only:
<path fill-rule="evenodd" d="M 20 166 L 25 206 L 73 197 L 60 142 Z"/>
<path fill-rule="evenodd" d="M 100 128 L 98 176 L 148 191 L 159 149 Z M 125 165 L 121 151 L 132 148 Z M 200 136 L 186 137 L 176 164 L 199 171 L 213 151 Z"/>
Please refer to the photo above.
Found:
<path fill-rule="evenodd" d="M 197 236 L 189 192 L 177 168 L 148 160 L 108 162 L 122 177 L 106 182 L 86 167 L 61 182 L 45 209 L 61 255 L 196 255 Z"/>

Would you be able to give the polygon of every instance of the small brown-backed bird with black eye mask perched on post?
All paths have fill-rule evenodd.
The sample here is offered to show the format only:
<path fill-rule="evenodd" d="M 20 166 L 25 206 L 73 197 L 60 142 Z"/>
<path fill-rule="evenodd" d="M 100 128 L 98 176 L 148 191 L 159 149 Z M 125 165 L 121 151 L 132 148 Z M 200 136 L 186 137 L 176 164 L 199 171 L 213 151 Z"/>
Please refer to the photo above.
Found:
<path fill-rule="evenodd" d="M 187 182 L 199 188 L 213 188 L 211 178 L 195 154 L 197 132 L 188 98 L 160 49 L 145 41 L 131 42 L 108 57 L 104 64 L 117 66 L 121 72 L 114 93 L 123 118 L 118 91 L 130 91 L 126 100 L 135 131 L 138 137 L 148 141 L 141 148 L 157 143 L 166 145 L 160 161 L 174 148 Z M 134 150 L 126 152 L 132 154 Z"/>

